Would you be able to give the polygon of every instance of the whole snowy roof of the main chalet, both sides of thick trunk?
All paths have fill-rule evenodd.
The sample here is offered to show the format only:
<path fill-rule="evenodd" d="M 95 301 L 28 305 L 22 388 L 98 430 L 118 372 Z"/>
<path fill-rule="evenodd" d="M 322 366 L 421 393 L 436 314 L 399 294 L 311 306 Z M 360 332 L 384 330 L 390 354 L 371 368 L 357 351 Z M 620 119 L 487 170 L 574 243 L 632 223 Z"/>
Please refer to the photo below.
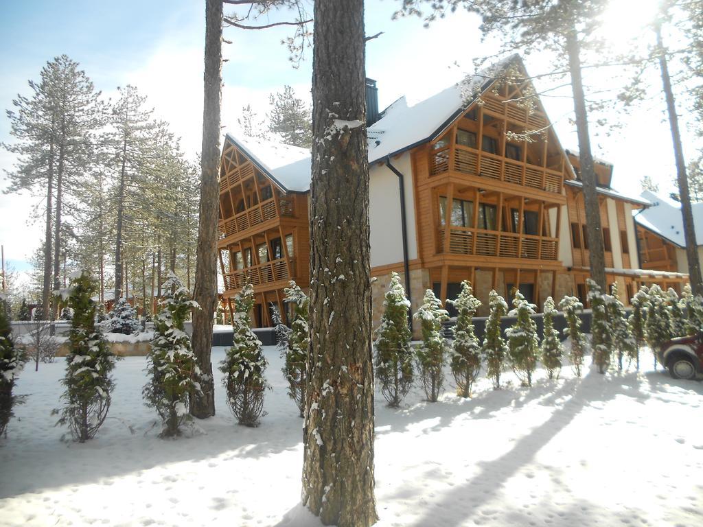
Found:
<path fill-rule="evenodd" d="M 368 127 L 368 162 L 377 162 L 432 141 L 468 104 L 488 89 L 498 72 L 515 60 L 520 58 L 517 55 L 505 58 L 471 79 L 458 82 L 415 105 L 408 106 L 405 97 L 396 100 L 382 112 L 378 122 Z M 284 191 L 305 192 L 310 189 L 310 150 L 231 134 L 227 134 L 227 138 Z"/>

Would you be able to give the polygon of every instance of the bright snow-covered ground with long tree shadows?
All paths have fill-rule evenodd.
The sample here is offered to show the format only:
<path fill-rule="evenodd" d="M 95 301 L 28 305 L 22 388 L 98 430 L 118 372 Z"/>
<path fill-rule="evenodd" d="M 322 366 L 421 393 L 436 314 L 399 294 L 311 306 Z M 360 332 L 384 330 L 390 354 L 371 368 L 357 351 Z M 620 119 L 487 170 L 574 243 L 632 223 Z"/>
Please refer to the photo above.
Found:
<path fill-rule="evenodd" d="M 302 419 L 265 353 L 259 428 L 234 423 L 217 384 L 205 433 L 174 441 L 142 403 L 144 358 L 117 364 L 108 420 L 84 445 L 61 442 L 50 415 L 64 361 L 22 372 L 29 396 L 0 439 L 0 525 L 318 525 L 297 506 Z M 532 389 L 505 373 L 499 391 L 482 379 L 474 398 L 448 389 L 432 404 L 416 390 L 401 410 L 377 398 L 378 526 L 703 525 L 703 383 L 652 371 L 648 354 L 643 366 L 538 372 Z"/>

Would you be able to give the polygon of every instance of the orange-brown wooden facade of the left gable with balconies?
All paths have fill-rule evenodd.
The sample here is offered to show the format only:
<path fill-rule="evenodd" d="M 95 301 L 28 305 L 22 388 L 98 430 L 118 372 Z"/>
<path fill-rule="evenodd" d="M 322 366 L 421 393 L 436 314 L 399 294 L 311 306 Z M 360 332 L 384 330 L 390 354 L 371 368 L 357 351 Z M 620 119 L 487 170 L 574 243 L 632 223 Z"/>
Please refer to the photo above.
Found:
<path fill-rule="evenodd" d="M 307 193 L 285 191 L 226 138 L 220 169 L 219 259 L 224 299 L 248 276 L 254 286 L 254 323 L 271 325 L 271 304 L 285 313 L 290 280 L 310 282 Z"/>

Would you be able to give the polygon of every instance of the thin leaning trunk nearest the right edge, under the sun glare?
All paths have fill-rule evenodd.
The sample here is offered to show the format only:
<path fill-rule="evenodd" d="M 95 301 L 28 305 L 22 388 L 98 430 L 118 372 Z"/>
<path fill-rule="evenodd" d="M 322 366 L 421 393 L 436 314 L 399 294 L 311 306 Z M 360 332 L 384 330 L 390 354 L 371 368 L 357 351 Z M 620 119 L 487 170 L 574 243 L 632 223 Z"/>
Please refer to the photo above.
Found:
<path fill-rule="evenodd" d="M 673 141 L 673 155 L 676 158 L 676 180 L 678 182 L 678 195 L 681 198 L 681 214 L 683 216 L 683 237 L 686 241 L 686 258 L 688 259 L 688 278 L 691 289 L 695 294 L 703 294 L 701 280 L 701 267 L 698 261 L 698 246 L 696 233 L 693 226 L 693 212 L 691 209 L 691 196 L 688 191 L 688 176 L 686 163 L 681 145 L 681 133 L 678 131 L 678 115 L 676 115 L 676 101 L 671 90 L 669 78 L 669 64 L 666 60 L 666 50 L 662 41 L 662 27 L 657 24 L 657 48 L 659 48 L 659 68 L 662 70 L 662 85 L 666 95 L 666 111 L 669 112 L 669 125 L 671 126 L 671 140 Z"/>

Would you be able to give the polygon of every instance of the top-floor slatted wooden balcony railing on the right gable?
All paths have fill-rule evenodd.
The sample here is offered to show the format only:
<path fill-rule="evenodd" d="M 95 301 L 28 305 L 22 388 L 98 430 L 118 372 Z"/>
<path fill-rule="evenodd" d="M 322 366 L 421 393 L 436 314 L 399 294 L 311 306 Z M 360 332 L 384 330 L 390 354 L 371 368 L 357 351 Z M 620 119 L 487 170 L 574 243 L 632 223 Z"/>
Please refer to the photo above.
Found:
<path fill-rule="evenodd" d="M 555 194 L 562 192 L 562 174 L 558 171 L 510 160 L 489 152 L 479 152 L 475 148 L 463 145 L 455 145 L 453 151 L 445 147 L 430 154 L 430 176 L 437 176 L 449 170 Z"/>

